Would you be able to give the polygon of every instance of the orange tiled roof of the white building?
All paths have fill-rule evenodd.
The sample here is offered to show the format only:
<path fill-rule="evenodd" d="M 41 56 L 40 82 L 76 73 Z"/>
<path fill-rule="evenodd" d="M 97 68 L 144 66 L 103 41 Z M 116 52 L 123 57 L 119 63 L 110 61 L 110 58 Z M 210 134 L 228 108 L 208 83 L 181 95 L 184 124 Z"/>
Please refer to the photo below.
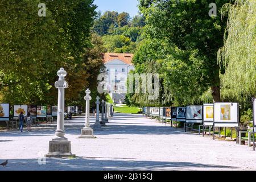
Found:
<path fill-rule="evenodd" d="M 125 64 L 133 65 L 131 60 L 133 59 L 133 53 L 104 53 L 104 63 L 108 63 L 111 60 L 118 59 Z"/>

